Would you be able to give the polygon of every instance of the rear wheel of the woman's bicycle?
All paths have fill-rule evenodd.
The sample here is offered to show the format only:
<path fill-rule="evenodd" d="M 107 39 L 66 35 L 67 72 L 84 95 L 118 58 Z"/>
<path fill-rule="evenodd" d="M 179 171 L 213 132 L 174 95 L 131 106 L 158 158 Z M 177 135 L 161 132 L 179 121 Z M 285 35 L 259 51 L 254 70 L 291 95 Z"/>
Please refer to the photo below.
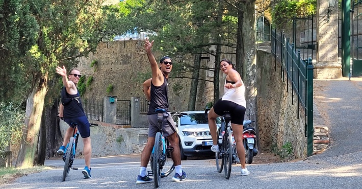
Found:
<path fill-rule="evenodd" d="M 224 135 L 224 172 L 225 172 L 225 178 L 230 178 L 231 173 L 231 165 L 232 165 L 232 136 L 230 128 L 227 128 L 225 135 Z"/>

